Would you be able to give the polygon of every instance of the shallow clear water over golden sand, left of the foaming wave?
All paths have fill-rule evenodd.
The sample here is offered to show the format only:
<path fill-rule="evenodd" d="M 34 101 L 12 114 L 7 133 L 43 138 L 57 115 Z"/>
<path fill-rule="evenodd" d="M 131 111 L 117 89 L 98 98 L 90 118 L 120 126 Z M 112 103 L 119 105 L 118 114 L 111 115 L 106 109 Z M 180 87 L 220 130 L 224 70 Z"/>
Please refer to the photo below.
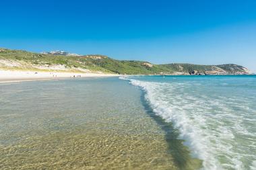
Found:
<path fill-rule="evenodd" d="M 0 169 L 195 169 L 143 91 L 115 78 L 0 84 Z"/>

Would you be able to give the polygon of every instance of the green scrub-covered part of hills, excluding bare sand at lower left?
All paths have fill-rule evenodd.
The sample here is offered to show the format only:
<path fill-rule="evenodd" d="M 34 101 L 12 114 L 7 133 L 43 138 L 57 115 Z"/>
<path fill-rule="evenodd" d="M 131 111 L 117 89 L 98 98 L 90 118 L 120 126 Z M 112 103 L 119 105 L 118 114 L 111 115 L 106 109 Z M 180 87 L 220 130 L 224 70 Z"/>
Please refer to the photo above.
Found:
<path fill-rule="evenodd" d="M 95 58 L 96 57 L 96 58 Z M 118 74 L 172 74 L 174 72 L 191 73 L 192 71 L 214 71 L 216 67 L 235 73 L 243 70 L 243 67 L 238 65 L 191 65 L 191 64 L 167 64 L 153 65 L 148 67 L 144 65 L 144 61 L 136 60 L 115 60 L 102 55 L 88 56 L 55 56 L 51 54 L 38 54 L 26 52 L 24 50 L 8 50 L 0 48 L 0 60 L 14 60 L 22 63 L 22 67 L 15 69 L 34 69 L 34 65 L 65 65 L 66 69 L 75 70 L 75 68 L 88 69 L 90 71 L 100 71 L 103 73 L 118 73 Z"/>

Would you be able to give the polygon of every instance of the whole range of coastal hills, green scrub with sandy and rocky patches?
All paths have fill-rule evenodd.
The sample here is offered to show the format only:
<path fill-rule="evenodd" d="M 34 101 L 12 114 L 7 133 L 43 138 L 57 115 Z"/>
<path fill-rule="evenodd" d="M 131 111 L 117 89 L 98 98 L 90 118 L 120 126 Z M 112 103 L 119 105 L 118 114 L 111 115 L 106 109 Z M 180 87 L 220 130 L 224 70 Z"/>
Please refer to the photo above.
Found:
<path fill-rule="evenodd" d="M 115 60 L 99 54 L 69 52 L 34 53 L 0 48 L 0 69 L 115 73 L 122 75 L 249 75 L 249 69 L 234 65 L 192 65 L 172 63 L 154 65 L 146 61 Z"/>

